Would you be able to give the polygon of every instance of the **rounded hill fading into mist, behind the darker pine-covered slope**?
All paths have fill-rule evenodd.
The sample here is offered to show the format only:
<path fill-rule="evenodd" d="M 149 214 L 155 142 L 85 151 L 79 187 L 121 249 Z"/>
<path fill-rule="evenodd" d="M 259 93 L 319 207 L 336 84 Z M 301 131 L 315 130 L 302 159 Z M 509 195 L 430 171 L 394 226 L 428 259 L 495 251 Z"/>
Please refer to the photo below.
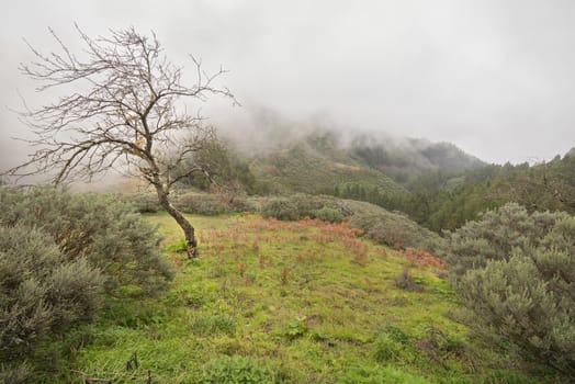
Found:
<path fill-rule="evenodd" d="M 260 193 L 334 194 L 396 208 L 409 181 L 429 172 L 458 176 L 484 163 L 447 143 L 383 142 L 368 135 L 343 138 L 328 129 L 277 143 L 249 155 Z"/>

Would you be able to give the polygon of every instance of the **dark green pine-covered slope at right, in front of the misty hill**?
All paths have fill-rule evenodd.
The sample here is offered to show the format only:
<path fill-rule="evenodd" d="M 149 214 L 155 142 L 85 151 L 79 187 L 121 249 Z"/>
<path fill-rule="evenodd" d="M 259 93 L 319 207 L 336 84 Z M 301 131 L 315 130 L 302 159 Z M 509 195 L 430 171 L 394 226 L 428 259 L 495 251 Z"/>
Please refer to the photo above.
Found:
<path fill-rule="evenodd" d="M 408 185 L 403 208 L 433 229 L 455 229 L 480 213 L 516 202 L 533 211 L 575 213 L 575 155 L 530 166 L 489 165 L 450 178 L 435 172 Z"/>

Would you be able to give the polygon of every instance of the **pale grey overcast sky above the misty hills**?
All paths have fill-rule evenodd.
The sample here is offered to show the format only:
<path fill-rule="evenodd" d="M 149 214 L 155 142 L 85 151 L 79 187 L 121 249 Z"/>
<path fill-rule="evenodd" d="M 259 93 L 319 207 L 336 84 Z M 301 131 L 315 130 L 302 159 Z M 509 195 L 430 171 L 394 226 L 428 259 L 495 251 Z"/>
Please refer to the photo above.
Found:
<path fill-rule="evenodd" d="M 18 70 L 22 38 L 72 48 L 89 35 L 154 30 L 179 64 L 229 69 L 243 103 L 207 106 L 241 129 L 255 110 L 290 121 L 327 116 L 339 127 L 447 140 L 489 162 L 551 159 L 575 146 L 573 0 L 93 0 L 5 1 L 0 14 L 0 156 L 25 135 L 9 108 L 37 99 Z M 190 66 L 192 69 L 192 66 Z"/>

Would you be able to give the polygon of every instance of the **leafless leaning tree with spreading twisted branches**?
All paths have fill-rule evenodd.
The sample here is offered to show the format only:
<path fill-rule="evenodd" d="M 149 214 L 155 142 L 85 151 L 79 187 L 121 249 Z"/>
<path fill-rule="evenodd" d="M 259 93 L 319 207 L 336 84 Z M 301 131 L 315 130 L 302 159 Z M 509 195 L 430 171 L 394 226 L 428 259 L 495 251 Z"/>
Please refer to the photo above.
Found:
<path fill-rule="evenodd" d="M 161 206 L 182 228 L 189 256 L 195 257 L 194 227 L 170 203 L 170 190 L 180 179 L 205 172 L 201 165 L 184 171 L 180 167 L 215 138 L 200 114 L 187 112 L 187 100 L 222 95 L 236 103 L 227 88 L 214 86 L 225 71 L 207 75 L 191 57 L 195 83 L 185 86 L 182 68 L 168 61 L 156 35 L 132 27 L 91 38 L 76 29 L 82 58 L 52 30 L 58 53 L 45 55 L 29 44 L 35 61 L 21 65 L 22 72 L 41 83 L 38 92 L 57 88 L 65 95 L 21 113 L 35 134 L 27 140 L 35 151 L 7 174 L 52 172 L 55 183 L 90 181 L 111 169 L 137 176 L 154 187 Z"/>

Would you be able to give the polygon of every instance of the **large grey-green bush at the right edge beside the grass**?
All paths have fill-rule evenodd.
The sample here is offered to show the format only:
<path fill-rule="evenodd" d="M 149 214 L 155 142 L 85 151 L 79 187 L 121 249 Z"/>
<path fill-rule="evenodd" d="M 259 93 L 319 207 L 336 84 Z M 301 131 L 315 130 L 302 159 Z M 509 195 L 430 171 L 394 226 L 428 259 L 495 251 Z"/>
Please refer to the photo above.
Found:
<path fill-rule="evenodd" d="M 472 327 L 575 379 L 575 217 L 511 204 L 455 235 L 451 260 L 467 251 L 456 290 Z"/>

